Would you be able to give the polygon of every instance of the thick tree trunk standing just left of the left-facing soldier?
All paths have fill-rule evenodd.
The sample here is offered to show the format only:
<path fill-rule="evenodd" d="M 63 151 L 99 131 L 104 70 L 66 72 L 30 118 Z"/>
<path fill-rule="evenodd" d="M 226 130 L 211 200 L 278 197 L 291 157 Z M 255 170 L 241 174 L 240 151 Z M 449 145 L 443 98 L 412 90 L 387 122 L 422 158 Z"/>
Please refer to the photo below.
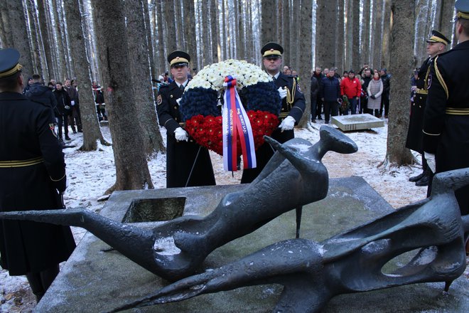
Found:
<path fill-rule="evenodd" d="M 409 68 L 413 53 L 409 38 L 414 38 L 415 11 L 414 4 L 407 0 L 394 0 L 392 4 L 392 72 L 391 95 L 389 104 L 389 124 L 387 129 L 386 162 L 398 166 L 410 164 L 412 156 L 406 146 L 407 129 L 409 127 Z"/>

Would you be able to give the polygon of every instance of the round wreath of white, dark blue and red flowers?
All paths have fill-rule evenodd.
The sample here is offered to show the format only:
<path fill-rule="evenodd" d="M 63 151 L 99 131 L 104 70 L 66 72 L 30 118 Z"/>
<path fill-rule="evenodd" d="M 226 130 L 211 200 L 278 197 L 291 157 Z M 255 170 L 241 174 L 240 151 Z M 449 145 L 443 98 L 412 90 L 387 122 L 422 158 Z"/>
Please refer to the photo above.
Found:
<path fill-rule="evenodd" d="M 188 83 L 179 108 L 188 134 L 198 144 L 220 155 L 223 155 L 220 95 L 225 93 L 230 83 L 235 84 L 249 118 L 255 149 L 264 143 L 264 135 L 270 135 L 279 125 L 281 98 L 267 73 L 242 60 L 207 65 Z M 242 154 L 241 141 L 237 141 L 237 156 Z"/>

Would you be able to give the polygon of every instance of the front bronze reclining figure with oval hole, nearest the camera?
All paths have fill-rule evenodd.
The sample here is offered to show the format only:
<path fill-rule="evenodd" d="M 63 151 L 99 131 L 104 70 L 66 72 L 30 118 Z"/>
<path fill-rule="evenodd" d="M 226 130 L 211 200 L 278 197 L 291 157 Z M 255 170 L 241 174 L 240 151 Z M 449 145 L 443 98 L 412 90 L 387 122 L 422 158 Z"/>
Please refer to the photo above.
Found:
<path fill-rule="evenodd" d="M 446 282 L 448 291 L 466 267 L 469 216 L 460 216 L 454 190 L 467 184 L 469 169 L 436 174 L 431 197 L 423 201 L 321 243 L 291 239 L 269 245 L 113 312 L 274 283 L 284 285 L 284 290 L 272 312 L 320 312 L 335 295 L 419 282 Z M 406 265 L 383 271 L 389 260 L 416 249 Z"/>

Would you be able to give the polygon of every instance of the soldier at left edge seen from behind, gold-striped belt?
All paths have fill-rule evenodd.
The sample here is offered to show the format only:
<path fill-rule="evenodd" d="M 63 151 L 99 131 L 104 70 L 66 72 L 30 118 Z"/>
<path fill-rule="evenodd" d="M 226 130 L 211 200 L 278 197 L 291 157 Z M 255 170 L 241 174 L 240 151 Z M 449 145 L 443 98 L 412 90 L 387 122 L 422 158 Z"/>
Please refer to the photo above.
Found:
<path fill-rule="evenodd" d="M 0 211 L 63 208 L 65 162 L 52 108 L 22 95 L 19 57 L 15 49 L 0 50 Z M 26 275 L 38 300 L 74 248 L 69 227 L 0 221 L 0 265 L 9 275 Z"/>

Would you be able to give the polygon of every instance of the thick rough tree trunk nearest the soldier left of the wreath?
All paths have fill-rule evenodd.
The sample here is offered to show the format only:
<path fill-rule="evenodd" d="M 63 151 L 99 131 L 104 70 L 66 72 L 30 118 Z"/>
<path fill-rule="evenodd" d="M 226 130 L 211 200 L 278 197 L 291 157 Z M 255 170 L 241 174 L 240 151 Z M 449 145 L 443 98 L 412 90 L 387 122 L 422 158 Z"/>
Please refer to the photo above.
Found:
<path fill-rule="evenodd" d="M 144 141 L 135 122 L 134 90 L 128 80 L 130 60 L 124 1 L 92 0 L 92 6 L 116 164 L 116 184 L 108 191 L 153 188 Z"/>

